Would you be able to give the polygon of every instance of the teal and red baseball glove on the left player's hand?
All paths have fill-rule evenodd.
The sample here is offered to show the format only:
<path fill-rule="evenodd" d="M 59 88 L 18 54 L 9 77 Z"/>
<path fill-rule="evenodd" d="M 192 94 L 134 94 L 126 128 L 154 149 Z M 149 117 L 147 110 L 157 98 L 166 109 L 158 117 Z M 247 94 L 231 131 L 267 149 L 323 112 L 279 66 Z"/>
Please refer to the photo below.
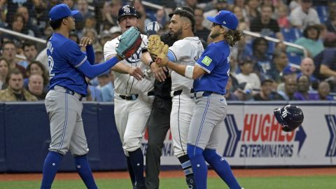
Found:
<path fill-rule="evenodd" d="M 120 36 L 119 41 L 117 54 L 123 59 L 129 58 L 140 48 L 142 42 L 140 31 L 131 27 Z"/>

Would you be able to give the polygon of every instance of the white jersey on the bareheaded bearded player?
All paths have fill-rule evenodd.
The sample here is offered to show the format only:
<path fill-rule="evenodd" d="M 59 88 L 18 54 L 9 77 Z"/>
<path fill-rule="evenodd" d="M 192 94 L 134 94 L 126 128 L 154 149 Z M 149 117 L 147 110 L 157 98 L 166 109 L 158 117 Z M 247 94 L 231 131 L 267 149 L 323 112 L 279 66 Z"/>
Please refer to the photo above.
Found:
<path fill-rule="evenodd" d="M 204 48 L 200 39 L 194 36 L 176 41 L 174 45 L 169 47 L 169 50 L 175 56 L 177 64 L 194 66 L 196 60 L 202 55 Z M 172 90 L 191 89 L 193 88 L 193 82 L 193 79 L 172 71 Z"/>

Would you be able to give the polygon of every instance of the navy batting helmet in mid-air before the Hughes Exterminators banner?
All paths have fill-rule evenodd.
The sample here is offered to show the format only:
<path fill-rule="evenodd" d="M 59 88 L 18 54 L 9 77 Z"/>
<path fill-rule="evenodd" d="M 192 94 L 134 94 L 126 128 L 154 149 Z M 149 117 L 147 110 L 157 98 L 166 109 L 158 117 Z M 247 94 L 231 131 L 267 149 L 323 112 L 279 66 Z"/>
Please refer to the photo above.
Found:
<path fill-rule="evenodd" d="M 274 109 L 274 116 L 284 132 L 295 130 L 303 122 L 302 110 L 290 104 L 282 108 Z"/>

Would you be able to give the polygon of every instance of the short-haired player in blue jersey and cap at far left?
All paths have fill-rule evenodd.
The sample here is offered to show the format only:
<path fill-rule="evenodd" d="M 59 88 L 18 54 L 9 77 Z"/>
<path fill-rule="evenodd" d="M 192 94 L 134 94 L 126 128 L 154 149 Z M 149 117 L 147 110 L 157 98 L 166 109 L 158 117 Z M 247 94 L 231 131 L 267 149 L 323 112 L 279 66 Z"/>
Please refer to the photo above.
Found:
<path fill-rule="evenodd" d="M 59 162 L 68 151 L 75 158 L 76 169 L 85 186 L 97 188 L 86 157 L 89 149 L 83 129 L 83 104 L 80 100 L 87 94 L 85 76 L 94 78 L 123 58 L 118 53 L 103 64 L 92 65 L 92 40 L 83 38 L 80 41 L 86 49 L 85 53 L 80 51 L 78 44 L 69 39 L 70 31 L 75 29 L 73 15 L 77 13 L 78 10 L 71 11 L 66 4 L 54 6 L 49 12 L 54 34 L 47 45 L 50 91 L 45 97 L 45 109 L 50 119 L 51 142 L 43 165 L 41 188 L 51 188 Z"/>

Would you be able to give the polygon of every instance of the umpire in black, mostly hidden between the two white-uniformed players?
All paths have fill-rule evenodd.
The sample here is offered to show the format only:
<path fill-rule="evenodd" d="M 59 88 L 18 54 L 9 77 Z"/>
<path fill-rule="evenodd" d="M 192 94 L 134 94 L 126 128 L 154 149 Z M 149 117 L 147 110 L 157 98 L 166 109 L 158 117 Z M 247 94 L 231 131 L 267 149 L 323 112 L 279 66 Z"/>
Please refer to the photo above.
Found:
<path fill-rule="evenodd" d="M 161 41 L 169 46 L 173 45 L 176 41 L 169 33 L 162 34 L 160 38 Z M 143 51 L 143 55 L 144 54 L 146 55 Z M 149 63 L 150 66 L 155 66 L 152 64 L 155 63 Z M 160 76 L 160 78 L 162 78 L 161 81 L 155 79 L 154 82 L 155 97 L 147 124 L 146 189 L 159 188 L 160 157 L 170 127 L 170 112 L 172 111 L 172 97 L 170 97 L 170 92 L 172 90 L 172 78 L 169 76 L 168 69 L 162 69 L 160 74 L 163 73 L 165 74 L 165 80 L 163 80 L 164 76 Z"/>

